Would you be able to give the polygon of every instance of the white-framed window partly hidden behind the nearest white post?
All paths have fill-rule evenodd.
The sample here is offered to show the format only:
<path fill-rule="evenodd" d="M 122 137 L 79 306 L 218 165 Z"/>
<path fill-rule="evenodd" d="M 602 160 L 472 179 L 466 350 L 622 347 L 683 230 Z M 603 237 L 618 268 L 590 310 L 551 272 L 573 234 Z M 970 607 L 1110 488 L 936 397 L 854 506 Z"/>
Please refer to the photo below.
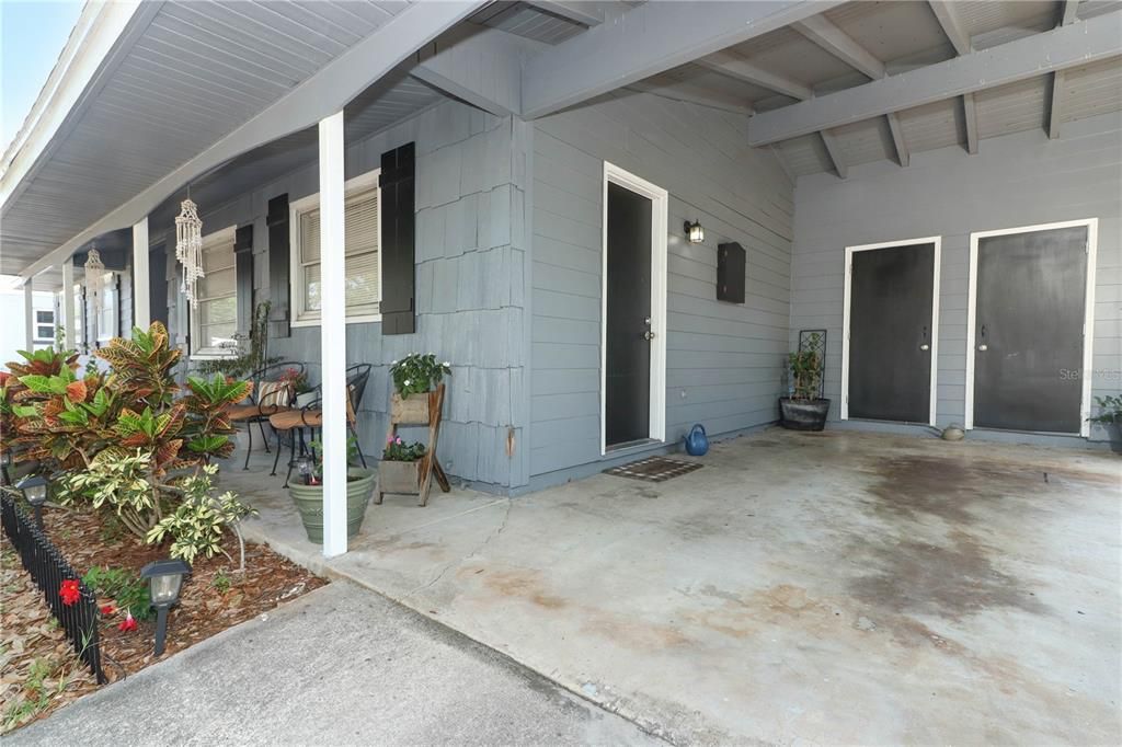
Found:
<path fill-rule="evenodd" d="M 381 320 L 380 194 L 375 169 L 347 182 L 344 199 L 347 322 Z M 289 205 L 294 326 L 320 323 L 320 195 Z"/>

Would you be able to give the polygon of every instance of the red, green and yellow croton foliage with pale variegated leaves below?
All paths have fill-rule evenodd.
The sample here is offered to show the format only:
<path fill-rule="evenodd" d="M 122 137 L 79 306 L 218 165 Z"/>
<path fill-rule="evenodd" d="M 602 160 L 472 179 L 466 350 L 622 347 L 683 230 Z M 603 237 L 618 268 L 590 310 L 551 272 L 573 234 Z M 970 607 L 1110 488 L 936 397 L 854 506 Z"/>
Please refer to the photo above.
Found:
<path fill-rule="evenodd" d="M 184 481 L 233 451 L 229 409 L 249 394 L 249 382 L 220 374 L 188 376 L 183 391 L 172 375 L 180 351 L 159 322 L 99 350 L 109 371 L 79 376 L 77 356 L 70 351 L 20 354 L 25 360 L 9 363 L 11 374 L 0 382 L 4 448 L 16 461 L 35 461 L 44 473 L 63 472 L 56 480 L 63 502 L 110 510 L 147 542 L 169 537 L 175 556 L 221 550 L 212 541 L 193 544 L 174 529 L 154 529 L 167 527 L 162 522 L 168 516 L 190 518 L 185 513 L 208 522 L 217 508 L 245 514 L 230 510 L 228 496 L 219 500 L 184 490 Z"/>

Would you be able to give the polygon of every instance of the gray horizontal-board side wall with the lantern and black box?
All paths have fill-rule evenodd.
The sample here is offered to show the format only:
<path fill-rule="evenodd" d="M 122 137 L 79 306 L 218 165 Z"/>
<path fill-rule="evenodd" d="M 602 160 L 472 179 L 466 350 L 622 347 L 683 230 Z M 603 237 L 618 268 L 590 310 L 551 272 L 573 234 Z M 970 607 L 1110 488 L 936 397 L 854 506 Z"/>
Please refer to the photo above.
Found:
<path fill-rule="evenodd" d="M 744 118 L 620 92 L 534 127 L 532 485 L 605 460 L 605 160 L 670 193 L 668 443 L 698 422 L 717 435 L 774 421 L 788 345 L 793 194 L 773 155 L 745 145 Z M 687 219 L 701 221 L 705 243 L 682 238 Z M 716 301 L 717 245 L 725 241 L 747 251 L 743 305 Z"/>

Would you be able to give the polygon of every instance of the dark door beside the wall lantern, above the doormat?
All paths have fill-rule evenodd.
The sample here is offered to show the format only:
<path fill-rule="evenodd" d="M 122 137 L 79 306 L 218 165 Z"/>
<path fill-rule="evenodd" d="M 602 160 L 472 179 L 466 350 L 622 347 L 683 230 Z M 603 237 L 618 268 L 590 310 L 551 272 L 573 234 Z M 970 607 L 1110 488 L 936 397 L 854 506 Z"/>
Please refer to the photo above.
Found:
<path fill-rule="evenodd" d="M 643 195 L 608 183 L 605 442 L 651 435 L 651 216 Z"/>

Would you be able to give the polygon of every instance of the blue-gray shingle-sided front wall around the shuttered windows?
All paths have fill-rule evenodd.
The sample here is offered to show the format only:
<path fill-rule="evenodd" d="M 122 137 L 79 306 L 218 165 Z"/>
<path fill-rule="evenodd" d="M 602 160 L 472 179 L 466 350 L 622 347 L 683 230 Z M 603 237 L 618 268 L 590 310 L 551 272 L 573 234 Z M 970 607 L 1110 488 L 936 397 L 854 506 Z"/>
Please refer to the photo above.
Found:
<path fill-rule="evenodd" d="M 347 325 L 348 363 L 374 365 L 359 412 L 366 454 L 380 454 L 388 419 L 389 363 L 420 351 L 452 363 L 439 455 L 449 474 L 476 487 L 506 492 L 526 481 L 507 441 L 526 430 L 523 267 L 519 236 L 522 188 L 514 177 L 511 118 L 497 118 L 459 102 L 443 102 L 368 139 L 350 144 L 346 176 L 375 169 L 383 153 L 416 142 L 416 320 L 415 334 L 383 336 L 380 323 Z M 524 164 L 521 165 L 524 168 Z M 319 191 L 315 162 L 224 205 L 203 205 L 204 231 L 254 224 L 254 286 L 257 302 L 269 297 L 269 199 L 289 202 Z M 174 255 L 174 230 L 168 251 Z M 174 265 L 169 257 L 168 267 Z M 173 270 L 169 269 L 169 273 Z M 169 308 L 177 324 L 172 284 Z M 177 325 L 182 335 L 184 326 Z M 270 338 L 269 354 L 311 363 L 319 381 L 320 328 L 292 328 Z M 408 435 L 408 434 L 407 434 Z M 420 434 L 415 434 L 420 435 Z"/>

